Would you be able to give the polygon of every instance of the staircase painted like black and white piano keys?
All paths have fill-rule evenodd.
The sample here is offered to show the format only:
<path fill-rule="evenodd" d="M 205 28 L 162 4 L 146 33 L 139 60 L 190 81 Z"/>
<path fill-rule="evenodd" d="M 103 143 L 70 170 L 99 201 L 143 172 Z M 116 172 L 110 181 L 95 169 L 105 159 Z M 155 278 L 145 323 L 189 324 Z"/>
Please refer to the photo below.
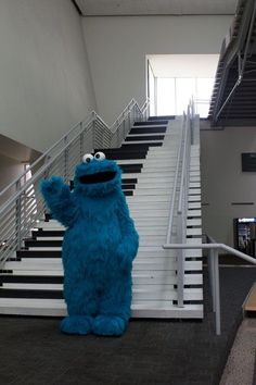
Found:
<path fill-rule="evenodd" d="M 181 117 L 135 122 L 119 148 L 103 149 L 123 170 L 121 188 L 140 235 L 133 261 L 133 318 L 203 318 L 202 251 L 185 251 L 184 302 L 177 306 L 177 250 L 164 250 L 181 140 Z M 191 148 L 188 243 L 202 241 L 200 148 Z M 97 151 L 97 150 L 95 150 Z M 63 316 L 64 228 L 47 216 L 0 274 L 0 314 Z M 175 235 L 174 235 L 175 237 Z"/>

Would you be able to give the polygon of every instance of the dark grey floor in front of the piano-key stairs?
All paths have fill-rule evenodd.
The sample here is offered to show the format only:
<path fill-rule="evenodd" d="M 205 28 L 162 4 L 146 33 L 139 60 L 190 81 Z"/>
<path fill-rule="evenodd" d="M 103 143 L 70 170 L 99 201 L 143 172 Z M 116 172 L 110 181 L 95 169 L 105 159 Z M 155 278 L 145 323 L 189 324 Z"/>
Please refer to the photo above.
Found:
<path fill-rule="evenodd" d="M 220 268 L 220 336 L 206 270 L 202 321 L 131 320 L 124 336 L 103 338 L 63 335 L 60 319 L 0 316 L 0 385 L 219 385 L 255 277 L 255 268 Z"/>

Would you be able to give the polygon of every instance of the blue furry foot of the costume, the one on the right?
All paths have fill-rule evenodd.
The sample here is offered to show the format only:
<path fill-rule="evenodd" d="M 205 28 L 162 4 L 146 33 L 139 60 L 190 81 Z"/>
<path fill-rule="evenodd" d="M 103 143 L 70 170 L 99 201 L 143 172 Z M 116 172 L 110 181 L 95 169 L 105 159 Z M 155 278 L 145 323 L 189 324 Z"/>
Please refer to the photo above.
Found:
<path fill-rule="evenodd" d="M 98 315 L 92 325 L 92 332 L 102 336 L 120 336 L 126 328 L 126 322 L 120 316 Z"/>

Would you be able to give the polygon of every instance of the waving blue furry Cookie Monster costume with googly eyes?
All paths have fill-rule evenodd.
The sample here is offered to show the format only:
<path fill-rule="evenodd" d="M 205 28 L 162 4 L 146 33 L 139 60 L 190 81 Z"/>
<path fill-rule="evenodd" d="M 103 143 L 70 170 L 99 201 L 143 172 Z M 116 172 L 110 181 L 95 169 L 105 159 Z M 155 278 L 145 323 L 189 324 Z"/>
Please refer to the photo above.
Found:
<path fill-rule="evenodd" d="M 104 153 L 76 166 L 74 191 L 61 177 L 41 183 L 52 216 L 67 227 L 63 240 L 68 334 L 121 335 L 130 318 L 131 268 L 139 236 L 121 191 L 120 169 Z"/>

